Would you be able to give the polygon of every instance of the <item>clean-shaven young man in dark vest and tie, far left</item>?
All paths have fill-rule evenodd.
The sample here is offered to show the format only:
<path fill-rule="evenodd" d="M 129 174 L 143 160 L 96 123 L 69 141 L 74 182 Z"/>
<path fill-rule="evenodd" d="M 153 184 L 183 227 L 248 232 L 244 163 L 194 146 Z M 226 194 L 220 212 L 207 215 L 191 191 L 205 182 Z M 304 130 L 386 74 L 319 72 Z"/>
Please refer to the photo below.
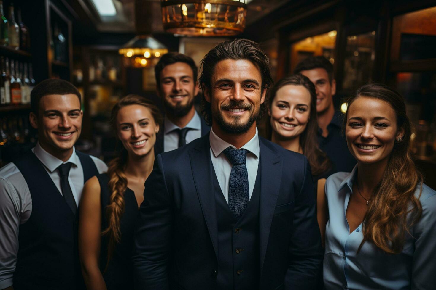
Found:
<path fill-rule="evenodd" d="M 82 289 L 77 206 L 83 184 L 107 170 L 76 151 L 81 97 L 65 80 L 44 80 L 31 93 L 38 142 L 0 170 L 0 289 Z"/>

